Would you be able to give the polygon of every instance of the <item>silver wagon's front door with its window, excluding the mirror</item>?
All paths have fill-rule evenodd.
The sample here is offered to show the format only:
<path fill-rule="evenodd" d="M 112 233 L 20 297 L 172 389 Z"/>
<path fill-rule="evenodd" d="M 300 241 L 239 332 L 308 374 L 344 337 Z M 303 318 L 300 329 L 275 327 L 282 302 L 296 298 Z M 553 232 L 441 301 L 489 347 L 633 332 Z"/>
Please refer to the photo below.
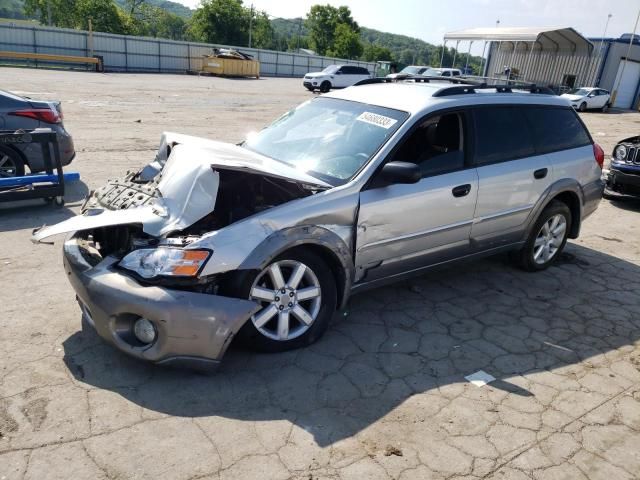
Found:
<path fill-rule="evenodd" d="M 469 165 L 466 117 L 427 118 L 402 140 L 389 161 L 419 165 L 414 184 L 380 185 L 360 193 L 356 283 L 420 269 L 469 250 L 478 178 Z"/>

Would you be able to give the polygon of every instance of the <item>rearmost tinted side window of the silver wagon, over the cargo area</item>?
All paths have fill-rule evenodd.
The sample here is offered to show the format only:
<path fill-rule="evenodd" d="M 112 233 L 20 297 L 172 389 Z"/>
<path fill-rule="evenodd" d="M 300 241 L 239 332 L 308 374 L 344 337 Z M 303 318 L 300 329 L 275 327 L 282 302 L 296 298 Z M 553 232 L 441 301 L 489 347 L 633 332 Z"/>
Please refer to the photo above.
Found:
<path fill-rule="evenodd" d="M 578 115 L 569 108 L 527 107 L 525 115 L 538 153 L 557 152 L 591 144 Z"/>

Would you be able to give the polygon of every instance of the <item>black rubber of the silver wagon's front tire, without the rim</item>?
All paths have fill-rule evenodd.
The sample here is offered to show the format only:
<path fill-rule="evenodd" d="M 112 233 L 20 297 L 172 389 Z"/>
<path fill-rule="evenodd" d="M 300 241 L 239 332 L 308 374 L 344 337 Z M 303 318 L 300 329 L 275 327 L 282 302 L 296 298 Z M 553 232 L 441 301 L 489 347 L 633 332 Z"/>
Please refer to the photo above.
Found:
<path fill-rule="evenodd" d="M 268 336 L 260 332 L 260 330 L 258 330 L 256 325 L 254 324 L 253 318 L 247 320 L 247 322 L 243 325 L 243 327 L 240 329 L 240 332 L 238 333 L 238 339 L 242 342 L 243 345 L 252 350 L 257 350 L 260 352 L 284 352 L 287 350 L 293 350 L 310 345 L 324 334 L 333 314 L 336 311 L 336 282 L 331 269 L 319 256 L 315 255 L 314 253 L 305 251 L 302 248 L 289 250 L 288 252 L 283 253 L 282 255 L 275 258 L 267 267 L 265 267 L 262 272 L 253 271 L 250 273 L 242 274 L 239 278 L 236 279 L 236 282 L 234 282 L 236 285 L 235 287 L 233 287 L 233 289 L 236 290 L 235 296 L 238 298 L 250 298 L 252 287 L 254 286 L 254 282 L 256 281 L 256 279 L 263 272 L 266 272 L 272 264 L 282 261 L 302 263 L 313 272 L 320 285 L 320 309 L 315 317 L 315 320 L 313 321 L 313 323 L 311 323 L 307 330 L 304 331 L 304 333 L 288 340 L 277 340 L 269 338 Z M 289 278 L 284 271 L 283 277 L 285 278 L 285 280 Z M 264 305 L 265 307 L 268 306 L 269 302 L 265 302 Z M 258 311 L 256 315 L 254 315 L 254 317 L 256 317 L 260 312 L 261 311 Z M 290 317 L 290 325 L 294 326 L 296 324 L 299 324 L 300 326 L 302 326 L 302 323 L 297 320 L 293 313 L 290 315 Z M 276 322 L 277 324 L 278 321 L 279 316 L 276 314 L 275 317 L 272 318 L 272 320 L 265 324 L 265 327 L 268 327 L 270 322 Z"/>

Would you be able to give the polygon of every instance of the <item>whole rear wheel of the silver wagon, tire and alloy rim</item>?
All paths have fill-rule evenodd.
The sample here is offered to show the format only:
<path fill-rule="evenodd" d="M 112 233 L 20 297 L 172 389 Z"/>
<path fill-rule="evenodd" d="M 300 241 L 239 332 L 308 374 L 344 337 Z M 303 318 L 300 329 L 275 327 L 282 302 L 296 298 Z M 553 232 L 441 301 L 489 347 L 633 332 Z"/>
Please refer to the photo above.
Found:
<path fill-rule="evenodd" d="M 566 204 L 552 201 L 540 214 L 517 259 L 528 272 L 549 268 L 555 262 L 569 236 L 571 210 Z"/>

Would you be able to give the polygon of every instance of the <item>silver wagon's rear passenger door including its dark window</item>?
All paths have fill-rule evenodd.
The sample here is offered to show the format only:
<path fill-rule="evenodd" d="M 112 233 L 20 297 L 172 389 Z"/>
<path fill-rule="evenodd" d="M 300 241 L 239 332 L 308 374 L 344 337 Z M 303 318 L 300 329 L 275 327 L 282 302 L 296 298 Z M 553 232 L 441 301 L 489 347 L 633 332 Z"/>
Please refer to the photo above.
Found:
<path fill-rule="evenodd" d="M 472 110 L 479 183 L 471 241 L 482 250 L 520 238 L 553 178 L 549 158 L 536 152 L 524 108 L 494 105 Z"/>

